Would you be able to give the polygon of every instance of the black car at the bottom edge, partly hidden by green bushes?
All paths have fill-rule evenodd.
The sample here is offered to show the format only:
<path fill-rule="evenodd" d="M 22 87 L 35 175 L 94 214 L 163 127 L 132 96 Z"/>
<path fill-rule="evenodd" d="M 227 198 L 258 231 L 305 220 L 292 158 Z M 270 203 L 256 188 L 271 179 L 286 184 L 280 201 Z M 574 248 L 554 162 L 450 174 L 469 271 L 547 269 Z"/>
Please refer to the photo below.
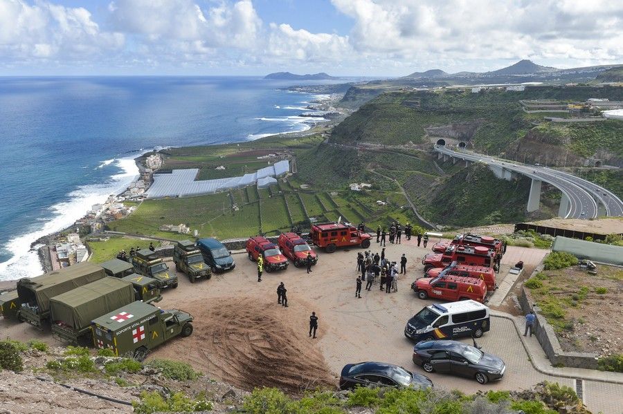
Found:
<path fill-rule="evenodd" d="M 401 366 L 383 362 L 345 365 L 340 375 L 340 388 L 342 390 L 354 388 L 357 384 L 422 389 L 433 386 L 433 382 L 424 375 L 411 373 Z"/>

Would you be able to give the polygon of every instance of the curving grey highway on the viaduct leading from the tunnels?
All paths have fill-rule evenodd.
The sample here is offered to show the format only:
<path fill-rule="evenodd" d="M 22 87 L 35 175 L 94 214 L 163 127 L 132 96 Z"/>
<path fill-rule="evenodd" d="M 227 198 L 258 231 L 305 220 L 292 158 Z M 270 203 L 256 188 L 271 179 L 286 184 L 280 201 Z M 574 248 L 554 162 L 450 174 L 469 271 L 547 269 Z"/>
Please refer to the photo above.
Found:
<path fill-rule="evenodd" d="M 440 145 L 435 145 L 435 151 L 462 160 L 483 162 L 487 165 L 520 173 L 529 178 L 548 182 L 548 184 L 562 191 L 569 199 L 570 208 L 565 218 L 595 218 L 599 214 L 598 203 L 603 205 L 606 216 L 623 216 L 623 202 L 620 198 L 611 193 L 611 191 L 599 187 L 593 182 L 573 176 L 570 173 L 548 167 L 522 164 L 521 162 L 499 160 L 498 158 L 469 151 L 453 151 Z"/>

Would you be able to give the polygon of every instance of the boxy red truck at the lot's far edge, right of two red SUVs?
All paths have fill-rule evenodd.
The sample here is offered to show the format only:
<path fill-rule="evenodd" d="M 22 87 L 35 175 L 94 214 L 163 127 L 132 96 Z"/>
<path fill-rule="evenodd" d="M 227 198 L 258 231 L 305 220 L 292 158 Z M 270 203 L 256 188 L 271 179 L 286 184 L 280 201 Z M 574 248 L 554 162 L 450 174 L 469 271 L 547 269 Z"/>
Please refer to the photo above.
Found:
<path fill-rule="evenodd" d="M 336 247 L 361 246 L 363 249 L 370 247 L 370 234 L 345 223 L 312 225 L 309 238 L 314 245 L 324 247 L 327 253 L 335 252 Z"/>

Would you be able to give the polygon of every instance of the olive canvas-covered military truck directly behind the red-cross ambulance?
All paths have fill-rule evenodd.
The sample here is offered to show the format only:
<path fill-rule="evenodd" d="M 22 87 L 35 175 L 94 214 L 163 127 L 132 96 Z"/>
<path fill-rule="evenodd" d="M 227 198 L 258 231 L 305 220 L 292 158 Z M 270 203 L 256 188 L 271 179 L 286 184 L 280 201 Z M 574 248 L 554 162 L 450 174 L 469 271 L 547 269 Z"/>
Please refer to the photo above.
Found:
<path fill-rule="evenodd" d="M 134 302 L 134 286 L 107 276 L 50 299 L 52 336 L 78 343 L 91 332 L 91 321 L 120 306 Z"/>

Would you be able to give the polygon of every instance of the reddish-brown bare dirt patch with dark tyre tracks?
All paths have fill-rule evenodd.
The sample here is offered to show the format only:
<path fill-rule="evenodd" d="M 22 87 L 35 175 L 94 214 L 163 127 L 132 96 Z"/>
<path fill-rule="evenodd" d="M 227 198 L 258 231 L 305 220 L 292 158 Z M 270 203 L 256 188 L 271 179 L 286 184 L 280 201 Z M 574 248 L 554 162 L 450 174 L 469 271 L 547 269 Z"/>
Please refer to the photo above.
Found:
<path fill-rule="evenodd" d="M 266 299 L 266 300 L 264 300 Z M 184 355 L 211 377 L 252 389 L 279 387 L 299 393 L 316 386 L 334 386 L 325 359 L 309 340 L 303 321 L 305 306 L 267 307 L 273 298 L 241 297 L 198 300 L 184 305 L 195 317 L 195 331 L 154 352 L 154 357 Z"/>

